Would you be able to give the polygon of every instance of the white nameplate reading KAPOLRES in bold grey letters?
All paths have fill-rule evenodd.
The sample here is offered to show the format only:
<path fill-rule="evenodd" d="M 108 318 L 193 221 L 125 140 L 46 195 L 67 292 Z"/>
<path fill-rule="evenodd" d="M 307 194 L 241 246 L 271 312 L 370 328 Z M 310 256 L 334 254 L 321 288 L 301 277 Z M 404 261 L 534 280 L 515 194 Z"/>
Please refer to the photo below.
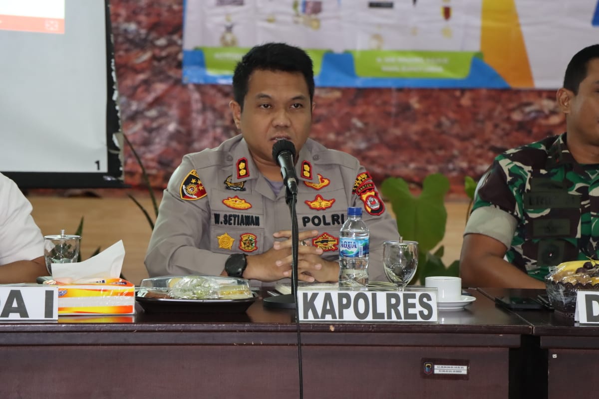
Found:
<path fill-rule="evenodd" d="M 299 321 L 437 322 L 435 291 L 300 290 Z"/>

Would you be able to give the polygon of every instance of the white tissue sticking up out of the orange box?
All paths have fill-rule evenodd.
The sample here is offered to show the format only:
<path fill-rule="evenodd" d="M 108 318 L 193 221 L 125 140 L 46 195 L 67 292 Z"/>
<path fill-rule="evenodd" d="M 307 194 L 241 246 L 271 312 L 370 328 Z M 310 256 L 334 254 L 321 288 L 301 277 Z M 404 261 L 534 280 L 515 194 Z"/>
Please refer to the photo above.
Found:
<path fill-rule="evenodd" d="M 114 243 L 98 255 L 75 263 L 53 263 L 52 278 L 65 284 L 86 284 L 119 278 L 125 259 L 123 241 Z"/>

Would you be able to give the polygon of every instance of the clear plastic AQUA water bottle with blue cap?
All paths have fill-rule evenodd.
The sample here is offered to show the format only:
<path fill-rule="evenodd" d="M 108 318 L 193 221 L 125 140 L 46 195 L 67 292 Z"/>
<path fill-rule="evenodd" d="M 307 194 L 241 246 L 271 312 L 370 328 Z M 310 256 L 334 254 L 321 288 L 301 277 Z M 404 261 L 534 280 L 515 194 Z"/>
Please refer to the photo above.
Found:
<path fill-rule="evenodd" d="M 347 208 L 347 220 L 339 233 L 339 287 L 368 285 L 370 232 L 362 220 L 362 208 Z"/>

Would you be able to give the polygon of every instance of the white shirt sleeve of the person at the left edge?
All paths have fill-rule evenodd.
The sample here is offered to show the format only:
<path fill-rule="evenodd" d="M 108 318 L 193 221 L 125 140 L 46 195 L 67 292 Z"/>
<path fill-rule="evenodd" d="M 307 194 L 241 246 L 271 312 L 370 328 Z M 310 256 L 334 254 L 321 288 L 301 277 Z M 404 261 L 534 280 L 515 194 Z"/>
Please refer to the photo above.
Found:
<path fill-rule="evenodd" d="M 32 209 L 16 183 L 0 173 L 0 265 L 44 255 L 44 237 Z"/>

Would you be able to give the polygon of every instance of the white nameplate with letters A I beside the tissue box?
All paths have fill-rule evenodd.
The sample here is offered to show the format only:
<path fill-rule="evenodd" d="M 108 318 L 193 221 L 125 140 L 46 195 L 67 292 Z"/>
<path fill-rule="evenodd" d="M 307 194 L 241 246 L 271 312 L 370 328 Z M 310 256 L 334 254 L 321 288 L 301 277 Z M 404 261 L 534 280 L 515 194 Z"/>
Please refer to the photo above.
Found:
<path fill-rule="evenodd" d="M 0 285 L 0 321 L 58 320 L 58 287 Z"/>

